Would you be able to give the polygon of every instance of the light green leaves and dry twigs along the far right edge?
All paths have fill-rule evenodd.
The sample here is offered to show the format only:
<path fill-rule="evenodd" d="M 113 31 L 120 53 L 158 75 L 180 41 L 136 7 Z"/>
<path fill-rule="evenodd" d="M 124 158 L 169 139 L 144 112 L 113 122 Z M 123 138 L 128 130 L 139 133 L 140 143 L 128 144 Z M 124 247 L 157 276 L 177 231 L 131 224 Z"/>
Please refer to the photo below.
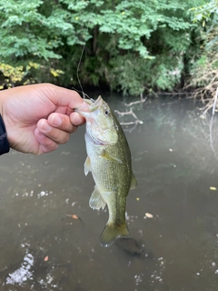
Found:
<path fill-rule="evenodd" d="M 218 2 L 210 1 L 206 5 L 194 7 L 193 21 L 202 24 L 201 55 L 193 62 L 190 84 L 197 87 L 195 96 L 214 95 L 218 86 Z"/>

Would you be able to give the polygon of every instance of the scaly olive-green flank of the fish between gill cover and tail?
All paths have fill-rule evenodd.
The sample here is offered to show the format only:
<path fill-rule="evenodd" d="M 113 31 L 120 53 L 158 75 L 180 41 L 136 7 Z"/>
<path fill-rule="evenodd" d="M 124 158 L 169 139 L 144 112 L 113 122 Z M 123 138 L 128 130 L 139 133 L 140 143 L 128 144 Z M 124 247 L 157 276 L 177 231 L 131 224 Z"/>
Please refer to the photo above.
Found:
<path fill-rule="evenodd" d="M 116 124 L 118 124 L 117 120 L 115 121 Z M 105 201 L 107 201 L 108 195 L 104 193 L 111 192 L 114 194 L 114 200 L 110 204 L 107 204 L 110 216 L 108 223 L 114 221 L 116 225 L 122 225 L 125 220 L 124 194 L 126 196 L 128 195 L 132 170 L 129 147 L 125 148 L 124 146 L 117 146 L 117 144 L 127 144 L 123 129 L 121 125 L 118 124 L 118 126 L 119 131 L 117 143 L 110 146 L 110 149 L 108 150 L 110 150 L 114 156 L 119 156 L 122 163 L 118 162 L 117 164 L 114 160 L 104 159 L 101 156 L 101 153 L 103 150 L 106 151 L 107 149 L 105 149 L 104 146 L 89 143 L 88 135 L 85 138 L 87 139 L 86 145 L 88 145 L 87 154 L 88 156 L 93 155 L 91 168 L 96 186 L 100 189 Z M 121 181 L 123 181 L 122 184 Z M 116 211 L 113 211 L 113 209 L 116 209 Z"/>

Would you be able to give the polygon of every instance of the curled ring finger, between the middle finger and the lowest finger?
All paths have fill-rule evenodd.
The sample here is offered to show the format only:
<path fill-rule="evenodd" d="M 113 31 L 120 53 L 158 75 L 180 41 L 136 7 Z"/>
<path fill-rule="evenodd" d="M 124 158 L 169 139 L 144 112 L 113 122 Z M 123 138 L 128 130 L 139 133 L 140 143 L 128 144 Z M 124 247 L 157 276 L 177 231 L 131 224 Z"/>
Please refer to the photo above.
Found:
<path fill-rule="evenodd" d="M 40 119 L 37 123 L 37 128 L 41 134 L 52 139 L 57 144 L 65 144 L 70 138 L 70 133 L 49 125 L 46 119 Z M 75 130 L 76 126 L 74 126 L 74 131 Z"/>

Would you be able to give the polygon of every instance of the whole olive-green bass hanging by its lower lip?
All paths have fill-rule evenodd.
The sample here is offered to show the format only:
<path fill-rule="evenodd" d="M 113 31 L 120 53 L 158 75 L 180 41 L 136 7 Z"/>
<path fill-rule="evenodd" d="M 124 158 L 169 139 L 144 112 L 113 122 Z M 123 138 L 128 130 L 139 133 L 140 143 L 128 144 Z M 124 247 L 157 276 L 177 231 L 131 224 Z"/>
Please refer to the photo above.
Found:
<path fill-rule="evenodd" d="M 86 120 L 85 146 L 87 158 L 84 175 L 92 173 L 95 186 L 89 200 L 93 209 L 107 205 L 109 218 L 99 237 L 101 246 L 111 246 L 118 237 L 128 237 L 125 221 L 126 196 L 137 186 L 132 170 L 131 152 L 124 130 L 102 96 L 75 111 Z"/>

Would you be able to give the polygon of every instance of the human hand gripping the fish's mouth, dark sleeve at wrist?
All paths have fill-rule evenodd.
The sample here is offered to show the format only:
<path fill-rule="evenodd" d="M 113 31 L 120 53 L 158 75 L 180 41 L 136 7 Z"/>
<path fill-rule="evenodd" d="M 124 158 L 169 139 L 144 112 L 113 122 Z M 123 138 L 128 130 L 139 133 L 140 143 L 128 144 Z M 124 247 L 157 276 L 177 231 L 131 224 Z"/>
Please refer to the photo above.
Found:
<path fill-rule="evenodd" d="M 12 148 L 41 155 L 64 144 L 84 117 L 73 112 L 84 105 L 75 91 L 51 84 L 24 85 L 0 92 L 0 114 Z"/>

